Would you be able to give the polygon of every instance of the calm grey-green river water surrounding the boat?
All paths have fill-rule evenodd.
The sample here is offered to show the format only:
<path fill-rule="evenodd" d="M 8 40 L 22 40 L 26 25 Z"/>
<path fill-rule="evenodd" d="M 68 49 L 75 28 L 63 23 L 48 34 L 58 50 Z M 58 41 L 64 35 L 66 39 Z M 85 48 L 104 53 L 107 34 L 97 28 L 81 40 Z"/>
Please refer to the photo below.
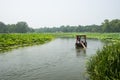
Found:
<path fill-rule="evenodd" d="M 75 49 L 75 39 L 58 38 L 0 54 L 0 80 L 86 80 L 86 61 L 103 46 L 87 42 L 87 49 Z"/>

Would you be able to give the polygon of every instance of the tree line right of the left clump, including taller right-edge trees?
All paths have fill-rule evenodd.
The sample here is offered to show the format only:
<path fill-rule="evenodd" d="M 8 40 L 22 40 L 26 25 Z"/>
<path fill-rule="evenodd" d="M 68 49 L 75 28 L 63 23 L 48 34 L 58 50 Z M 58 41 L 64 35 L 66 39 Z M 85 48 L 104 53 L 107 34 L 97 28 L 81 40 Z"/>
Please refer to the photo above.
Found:
<path fill-rule="evenodd" d="M 104 20 L 101 25 L 87 25 L 87 26 L 61 26 L 53 28 L 39 28 L 36 32 L 120 32 L 120 20 L 114 19 L 112 21 Z"/>

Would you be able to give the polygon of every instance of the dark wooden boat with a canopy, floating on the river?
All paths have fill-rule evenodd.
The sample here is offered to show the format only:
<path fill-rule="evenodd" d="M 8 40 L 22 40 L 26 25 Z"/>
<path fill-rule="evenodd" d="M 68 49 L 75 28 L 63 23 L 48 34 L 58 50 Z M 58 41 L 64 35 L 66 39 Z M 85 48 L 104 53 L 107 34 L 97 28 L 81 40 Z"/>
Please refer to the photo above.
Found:
<path fill-rule="evenodd" d="M 76 48 L 86 48 L 87 47 L 87 41 L 86 41 L 86 35 L 76 35 Z"/>

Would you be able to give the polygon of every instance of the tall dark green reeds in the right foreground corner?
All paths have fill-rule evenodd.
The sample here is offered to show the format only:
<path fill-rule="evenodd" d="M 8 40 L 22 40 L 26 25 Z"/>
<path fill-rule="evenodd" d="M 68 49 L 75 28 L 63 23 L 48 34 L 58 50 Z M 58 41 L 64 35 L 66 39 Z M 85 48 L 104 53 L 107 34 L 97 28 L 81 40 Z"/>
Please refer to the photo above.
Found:
<path fill-rule="evenodd" d="M 120 79 L 120 43 L 107 45 L 89 59 L 87 72 L 91 80 Z"/>

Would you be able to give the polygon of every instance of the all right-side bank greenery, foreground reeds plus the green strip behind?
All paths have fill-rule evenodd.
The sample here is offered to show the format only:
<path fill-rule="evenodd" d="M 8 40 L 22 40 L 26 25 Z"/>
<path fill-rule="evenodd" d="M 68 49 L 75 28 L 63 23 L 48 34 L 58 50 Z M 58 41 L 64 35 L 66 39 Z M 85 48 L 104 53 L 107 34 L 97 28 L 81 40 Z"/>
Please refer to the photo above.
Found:
<path fill-rule="evenodd" d="M 110 43 L 98 50 L 96 55 L 87 62 L 87 73 L 90 80 L 119 80 L 120 79 L 120 34 L 103 33 L 90 35 Z"/>

